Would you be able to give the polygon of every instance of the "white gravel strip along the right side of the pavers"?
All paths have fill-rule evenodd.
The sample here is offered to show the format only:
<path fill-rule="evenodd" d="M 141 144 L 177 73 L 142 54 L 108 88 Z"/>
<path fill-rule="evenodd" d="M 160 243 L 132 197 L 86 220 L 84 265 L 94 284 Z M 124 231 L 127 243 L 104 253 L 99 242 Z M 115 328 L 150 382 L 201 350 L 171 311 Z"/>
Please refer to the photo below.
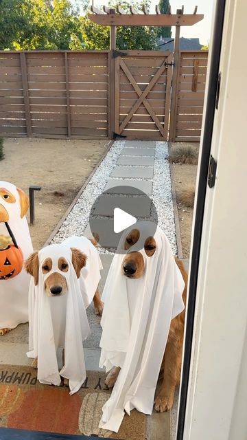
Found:
<path fill-rule="evenodd" d="M 156 142 L 152 201 L 158 214 L 158 225 L 165 232 L 174 254 L 177 254 L 172 184 L 167 142 Z"/>

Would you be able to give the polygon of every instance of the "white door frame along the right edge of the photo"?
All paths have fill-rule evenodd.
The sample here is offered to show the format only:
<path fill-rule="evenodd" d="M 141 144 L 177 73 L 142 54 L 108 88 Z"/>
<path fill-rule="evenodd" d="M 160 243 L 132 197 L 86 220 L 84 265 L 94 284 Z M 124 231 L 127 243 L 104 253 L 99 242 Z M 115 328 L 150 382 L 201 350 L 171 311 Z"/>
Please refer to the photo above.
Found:
<path fill-rule="evenodd" d="M 184 440 L 247 438 L 246 17 L 245 1 L 226 0 L 219 68 L 221 85 L 211 137 L 217 172 L 215 186 L 211 189 L 207 186 L 204 203 L 185 423 L 183 437 L 181 426 L 177 437 Z M 209 72 L 215 63 L 212 55 L 213 47 Z M 209 78 L 207 83 L 210 94 Z M 207 136 L 205 129 L 207 112 L 202 144 Z M 202 144 L 199 170 L 204 160 Z M 200 171 L 197 184 L 200 191 L 199 184 Z M 195 230 L 196 214 L 193 221 Z M 190 274 L 193 278 L 192 266 Z M 190 275 L 189 288 L 194 283 L 192 278 Z"/>

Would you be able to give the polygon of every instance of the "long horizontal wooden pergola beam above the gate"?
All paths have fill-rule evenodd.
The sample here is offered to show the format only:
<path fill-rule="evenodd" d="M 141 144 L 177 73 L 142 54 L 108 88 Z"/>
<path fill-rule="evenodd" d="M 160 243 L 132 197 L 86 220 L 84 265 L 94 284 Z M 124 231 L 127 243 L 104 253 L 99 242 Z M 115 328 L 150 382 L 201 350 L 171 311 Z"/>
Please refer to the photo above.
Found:
<path fill-rule="evenodd" d="M 192 26 L 203 14 L 89 14 L 89 19 L 103 26 Z"/>

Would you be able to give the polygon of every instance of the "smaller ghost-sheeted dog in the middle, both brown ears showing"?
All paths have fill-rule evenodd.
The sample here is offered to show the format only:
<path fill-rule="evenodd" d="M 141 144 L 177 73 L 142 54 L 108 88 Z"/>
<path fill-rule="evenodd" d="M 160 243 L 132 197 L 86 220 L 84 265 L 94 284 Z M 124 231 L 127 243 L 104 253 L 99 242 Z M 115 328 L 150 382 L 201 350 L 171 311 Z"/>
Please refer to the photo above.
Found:
<path fill-rule="evenodd" d="M 64 377 L 69 380 L 72 395 L 86 379 L 83 341 L 90 334 L 86 307 L 99 283 L 102 269 L 99 255 L 91 241 L 73 236 L 62 244 L 35 252 L 25 265 L 33 275 L 27 356 L 37 358 L 37 377 L 41 383 L 59 386 Z M 58 291 L 56 284 L 59 283 Z M 48 285 L 55 287 L 49 289 Z M 62 369 L 59 348 L 64 349 Z"/>

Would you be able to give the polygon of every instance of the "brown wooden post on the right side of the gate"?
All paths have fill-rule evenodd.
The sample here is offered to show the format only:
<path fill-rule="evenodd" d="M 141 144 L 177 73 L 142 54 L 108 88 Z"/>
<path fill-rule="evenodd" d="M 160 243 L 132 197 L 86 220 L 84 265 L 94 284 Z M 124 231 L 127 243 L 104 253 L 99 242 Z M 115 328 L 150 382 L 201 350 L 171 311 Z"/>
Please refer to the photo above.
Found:
<path fill-rule="evenodd" d="M 176 26 L 175 40 L 174 40 L 174 68 L 172 73 L 172 100 L 169 124 L 169 141 L 174 142 L 176 132 L 176 103 L 178 91 L 178 76 L 179 76 L 179 36 L 180 26 Z"/>

